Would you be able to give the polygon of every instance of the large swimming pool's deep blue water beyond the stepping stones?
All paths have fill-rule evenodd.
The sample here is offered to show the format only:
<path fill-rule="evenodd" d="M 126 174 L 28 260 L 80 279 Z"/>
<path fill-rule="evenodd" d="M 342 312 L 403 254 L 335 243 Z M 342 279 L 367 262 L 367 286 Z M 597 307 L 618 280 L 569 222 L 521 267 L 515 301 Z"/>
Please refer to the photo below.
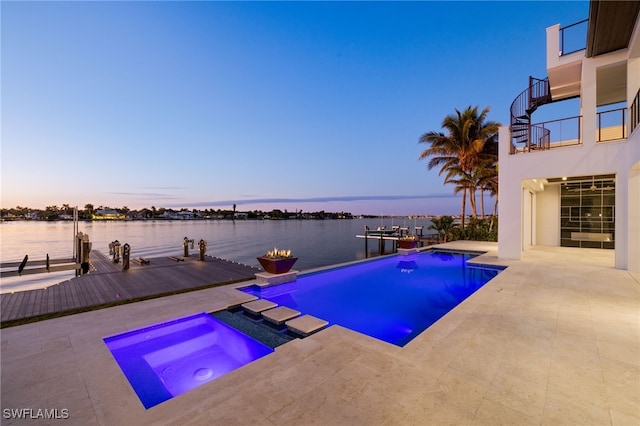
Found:
<path fill-rule="evenodd" d="M 404 346 L 504 269 L 469 265 L 476 255 L 426 251 L 390 256 L 242 290 Z"/>

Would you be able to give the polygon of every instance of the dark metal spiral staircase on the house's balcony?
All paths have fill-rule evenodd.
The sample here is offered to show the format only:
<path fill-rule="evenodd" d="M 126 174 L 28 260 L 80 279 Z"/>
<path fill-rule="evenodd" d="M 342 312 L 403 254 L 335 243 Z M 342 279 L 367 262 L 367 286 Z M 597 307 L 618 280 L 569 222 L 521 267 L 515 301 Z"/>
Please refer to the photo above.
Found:
<path fill-rule="evenodd" d="M 529 87 L 511 104 L 510 154 L 549 149 L 549 130 L 531 125 L 531 114 L 540 106 L 552 102 L 549 78 L 529 77 Z"/>

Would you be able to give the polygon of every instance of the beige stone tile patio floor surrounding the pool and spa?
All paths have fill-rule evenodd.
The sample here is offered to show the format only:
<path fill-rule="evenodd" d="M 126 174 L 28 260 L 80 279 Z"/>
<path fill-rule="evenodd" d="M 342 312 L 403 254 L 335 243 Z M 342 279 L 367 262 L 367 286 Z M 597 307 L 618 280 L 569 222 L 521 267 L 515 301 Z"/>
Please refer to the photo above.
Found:
<path fill-rule="evenodd" d="M 145 410 L 102 337 L 246 301 L 232 287 L 0 330 L 3 425 L 640 425 L 640 276 L 535 247 L 399 348 L 333 326 Z M 67 409 L 15 420 L 5 409 Z"/>

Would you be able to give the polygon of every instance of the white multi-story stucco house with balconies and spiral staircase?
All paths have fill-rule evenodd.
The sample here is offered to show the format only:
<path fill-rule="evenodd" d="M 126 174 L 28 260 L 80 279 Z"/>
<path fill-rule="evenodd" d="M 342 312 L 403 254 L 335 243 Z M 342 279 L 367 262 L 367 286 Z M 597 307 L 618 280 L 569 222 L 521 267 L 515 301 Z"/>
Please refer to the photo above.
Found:
<path fill-rule="evenodd" d="M 598 248 L 640 271 L 639 10 L 640 1 L 592 0 L 586 21 L 547 28 L 548 78 L 523 85 L 499 131 L 499 257 Z M 567 48 L 580 27 L 581 48 Z M 536 121 L 569 100 L 575 116 Z"/>

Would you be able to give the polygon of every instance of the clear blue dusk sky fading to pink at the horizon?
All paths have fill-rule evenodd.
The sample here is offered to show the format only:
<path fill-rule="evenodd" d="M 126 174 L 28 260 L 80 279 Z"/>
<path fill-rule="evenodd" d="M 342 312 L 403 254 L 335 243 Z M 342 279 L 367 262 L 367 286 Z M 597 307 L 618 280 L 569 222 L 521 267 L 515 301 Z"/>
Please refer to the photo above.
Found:
<path fill-rule="evenodd" d="M 1 4 L 2 207 L 456 214 L 418 155 L 508 123 L 588 2 Z"/>

